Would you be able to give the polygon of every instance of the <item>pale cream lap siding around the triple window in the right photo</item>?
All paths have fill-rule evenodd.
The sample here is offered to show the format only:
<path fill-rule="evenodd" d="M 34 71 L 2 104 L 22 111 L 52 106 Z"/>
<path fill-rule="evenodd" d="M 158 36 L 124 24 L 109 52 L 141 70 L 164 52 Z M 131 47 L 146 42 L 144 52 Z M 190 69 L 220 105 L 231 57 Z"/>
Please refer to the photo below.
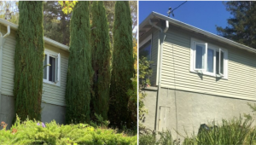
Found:
<path fill-rule="evenodd" d="M 218 44 L 215 44 L 218 45 Z M 256 100 L 256 57 L 240 49 L 229 51 L 228 78 L 190 73 L 189 34 L 168 31 L 163 45 L 162 86 L 217 96 Z"/>

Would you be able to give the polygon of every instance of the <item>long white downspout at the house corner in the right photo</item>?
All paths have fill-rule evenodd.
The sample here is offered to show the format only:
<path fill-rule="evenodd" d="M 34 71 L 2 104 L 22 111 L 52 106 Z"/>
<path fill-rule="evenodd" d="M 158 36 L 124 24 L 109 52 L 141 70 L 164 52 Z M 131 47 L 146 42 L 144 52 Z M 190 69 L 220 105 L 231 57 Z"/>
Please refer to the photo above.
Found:
<path fill-rule="evenodd" d="M 163 55 L 163 44 L 166 38 L 166 32 L 169 29 L 169 21 L 166 20 L 166 28 L 163 30 L 160 26 L 154 25 L 149 19 L 149 24 L 160 30 L 160 63 L 159 63 L 159 75 L 158 75 L 158 90 L 156 98 L 156 107 L 155 107 L 155 118 L 154 118 L 154 131 L 156 131 L 156 126 L 159 118 L 158 107 L 159 107 L 159 98 L 160 98 L 160 87 L 161 87 L 161 72 L 162 72 L 162 55 Z"/>

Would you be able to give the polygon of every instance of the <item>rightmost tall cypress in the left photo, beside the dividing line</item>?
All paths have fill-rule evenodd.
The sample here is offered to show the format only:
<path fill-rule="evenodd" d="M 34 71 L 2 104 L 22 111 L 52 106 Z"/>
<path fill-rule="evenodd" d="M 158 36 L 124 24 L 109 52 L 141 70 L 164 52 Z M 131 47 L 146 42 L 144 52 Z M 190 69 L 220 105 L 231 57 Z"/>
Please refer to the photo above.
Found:
<path fill-rule="evenodd" d="M 119 128 L 131 124 L 131 112 L 128 110 L 127 90 L 132 89 L 131 78 L 134 74 L 133 48 L 131 30 L 131 12 L 128 1 L 115 3 L 115 17 L 113 23 L 113 70 L 110 84 L 111 104 L 108 111 L 110 125 Z"/>

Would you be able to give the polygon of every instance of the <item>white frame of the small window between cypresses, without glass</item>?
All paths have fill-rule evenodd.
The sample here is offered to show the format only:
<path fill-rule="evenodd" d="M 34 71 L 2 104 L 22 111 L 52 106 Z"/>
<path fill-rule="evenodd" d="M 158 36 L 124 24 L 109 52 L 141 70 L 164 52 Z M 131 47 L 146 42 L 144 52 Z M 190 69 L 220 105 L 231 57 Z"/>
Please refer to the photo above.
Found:
<path fill-rule="evenodd" d="M 61 54 L 60 53 L 53 53 L 49 52 L 47 50 L 44 51 L 44 54 L 47 55 L 47 62 L 46 64 L 49 64 L 49 56 L 55 57 L 57 59 L 57 80 L 55 82 L 49 81 L 49 66 L 46 67 L 46 79 L 43 78 L 43 82 L 47 84 L 53 84 L 56 86 L 61 86 Z"/>

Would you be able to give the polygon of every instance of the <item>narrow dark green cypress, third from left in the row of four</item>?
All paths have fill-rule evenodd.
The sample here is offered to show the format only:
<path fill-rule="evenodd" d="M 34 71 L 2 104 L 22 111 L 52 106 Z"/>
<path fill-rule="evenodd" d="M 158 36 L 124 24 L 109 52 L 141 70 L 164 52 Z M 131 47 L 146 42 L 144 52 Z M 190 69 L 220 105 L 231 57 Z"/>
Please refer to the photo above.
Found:
<path fill-rule="evenodd" d="M 93 2 L 91 9 L 92 30 L 91 49 L 93 75 L 93 110 L 108 119 L 109 84 L 110 84 L 110 44 L 108 35 L 108 21 L 103 2 Z"/>

